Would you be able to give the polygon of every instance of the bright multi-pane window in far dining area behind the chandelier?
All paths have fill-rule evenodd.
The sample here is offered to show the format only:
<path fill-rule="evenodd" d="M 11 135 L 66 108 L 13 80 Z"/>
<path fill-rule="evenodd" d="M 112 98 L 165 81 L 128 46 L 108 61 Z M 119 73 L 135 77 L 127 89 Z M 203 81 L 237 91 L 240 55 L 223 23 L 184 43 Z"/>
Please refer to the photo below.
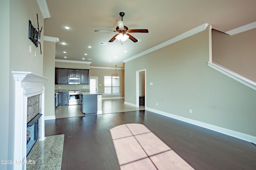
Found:
<path fill-rule="evenodd" d="M 117 77 L 117 79 L 116 79 Z M 119 76 L 104 76 L 104 93 L 120 94 Z"/>

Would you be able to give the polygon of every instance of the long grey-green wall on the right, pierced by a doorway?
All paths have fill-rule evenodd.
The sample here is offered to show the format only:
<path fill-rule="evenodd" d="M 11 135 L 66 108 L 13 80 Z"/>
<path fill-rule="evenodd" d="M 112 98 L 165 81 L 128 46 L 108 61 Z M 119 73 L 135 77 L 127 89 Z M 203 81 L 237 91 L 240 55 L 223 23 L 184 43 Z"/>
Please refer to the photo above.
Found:
<path fill-rule="evenodd" d="M 256 91 L 207 65 L 208 31 L 126 62 L 125 101 L 136 103 L 136 70 L 146 69 L 147 108 L 256 136 Z"/>

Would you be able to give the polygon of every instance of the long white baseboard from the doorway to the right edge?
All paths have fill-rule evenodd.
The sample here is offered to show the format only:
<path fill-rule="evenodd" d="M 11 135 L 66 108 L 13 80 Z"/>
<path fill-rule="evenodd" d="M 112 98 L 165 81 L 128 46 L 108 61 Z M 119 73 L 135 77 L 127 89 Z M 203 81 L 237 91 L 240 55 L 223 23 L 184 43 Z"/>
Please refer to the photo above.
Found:
<path fill-rule="evenodd" d="M 242 139 L 244 141 L 256 143 L 256 137 L 251 136 L 251 135 L 247 135 L 245 133 L 232 131 L 230 129 L 225 129 L 225 128 L 218 127 L 218 126 L 215 126 L 215 125 L 210 125 L 208 123 L 203 123 L 203 122 L 200 122 L 200 121 L 196 121 L 196 120 L 193 120 L 193 119 L 188 119 L 186 117 L 181 117 L 181 116 L 178 116 L 178 115 L 174 115 L 174 114 L 171 114 L 171 113 L 166 113 L 164 111 L 159 111 L 159 110 L 151 109 L 151 108 L 148 108 L 148 107 L 146 108 L 146 110 L 152 111 L 154 113 L 164 115 L 164 116 L 167 116 L 167 117 L 171 117 L 173 119 L 184 121 L 186 123 L 190 123 L 190 124 L 193 124 L 193 125 L 196 125 L 196 126 L 204 127 L 206 129 L 210 129 L 212 131 L 223 133 L 225 135 L 229 135 L 229 136 L 232 136 L 232 137 L 235 137 L 235 138 L 238 138 L 238 139 Z"/>

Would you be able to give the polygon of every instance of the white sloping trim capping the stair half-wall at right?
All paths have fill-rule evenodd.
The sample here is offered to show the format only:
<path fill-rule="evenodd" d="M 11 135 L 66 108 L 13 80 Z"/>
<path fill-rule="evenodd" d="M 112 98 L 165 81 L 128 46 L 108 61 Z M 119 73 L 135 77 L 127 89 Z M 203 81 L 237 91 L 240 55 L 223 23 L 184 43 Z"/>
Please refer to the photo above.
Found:
<path fill-rule="evenodd" d="M 256 82 L 254 82 L 244 76 L 241 76 L 240 74 L 237 74 L 237 73 L 229 70 L 228 68 L 220 66 L 219 64 L 209 62 L 209 61 L 207 63 L 208 63 L 208 66 L 214 68 L 215 70 L 225 74 L 226 76 L 229 76 L 230 78 L 233 78 L 234 80 L 244 84 L 245 86 L 252 88 L 253 90 L 256 90 Z"/>

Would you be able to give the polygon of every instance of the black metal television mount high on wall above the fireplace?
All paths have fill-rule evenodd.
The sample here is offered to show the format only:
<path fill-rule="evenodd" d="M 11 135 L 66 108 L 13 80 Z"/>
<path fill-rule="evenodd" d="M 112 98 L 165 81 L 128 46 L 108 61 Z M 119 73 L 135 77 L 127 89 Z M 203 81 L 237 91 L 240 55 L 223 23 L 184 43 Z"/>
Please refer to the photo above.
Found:
<path fill-rule="evenodd" d="M 32 41 L 32 43 L 38 47 L 38 44 L 40 45 L 40 52 L 42 55 L 42 49 L 41 49 L 41 43 L 40 43 L 40 35 L 42 32 L 43 27 L 39 30 L 39 23 L 38 23 L 38 14 L 36 14 L 37 17 L 37 30 L 32 25 L 31 21 L 28 20 L 28 38 Z"/>

